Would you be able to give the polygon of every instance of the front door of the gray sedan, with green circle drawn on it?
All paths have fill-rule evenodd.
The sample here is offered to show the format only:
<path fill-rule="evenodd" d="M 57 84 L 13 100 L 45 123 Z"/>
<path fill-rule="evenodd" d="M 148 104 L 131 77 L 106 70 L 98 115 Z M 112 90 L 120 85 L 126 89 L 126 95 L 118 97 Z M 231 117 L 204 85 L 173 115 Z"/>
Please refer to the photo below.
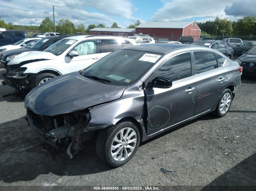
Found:
<path fill-rule="evenodd" d="M 193 74 L 192 74 L 193 75 Z M 145 88 L 147 97 L 147 134 L 152 135 L 194 115 L 193 95 L 197 81 L 191 76 L 190 53 L 181 53 L 165 61 L 145 84 L 156 77 L 173 81 L 171 88 Z"/>

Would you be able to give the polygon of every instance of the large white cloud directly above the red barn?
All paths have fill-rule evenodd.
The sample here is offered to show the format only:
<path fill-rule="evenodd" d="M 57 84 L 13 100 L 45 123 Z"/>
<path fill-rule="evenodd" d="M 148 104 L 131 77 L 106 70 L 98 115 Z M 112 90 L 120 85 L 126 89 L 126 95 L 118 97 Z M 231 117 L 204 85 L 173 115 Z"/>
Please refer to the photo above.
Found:
<path fill-rule="evenodd" d="M 194 17 L 225 16 L 224 8 L 234 0 L 174 0 L 172 2 L 163 1 L 164 5 L 158 9 L 151 17 L 156 21 L 183 20 Z"/>

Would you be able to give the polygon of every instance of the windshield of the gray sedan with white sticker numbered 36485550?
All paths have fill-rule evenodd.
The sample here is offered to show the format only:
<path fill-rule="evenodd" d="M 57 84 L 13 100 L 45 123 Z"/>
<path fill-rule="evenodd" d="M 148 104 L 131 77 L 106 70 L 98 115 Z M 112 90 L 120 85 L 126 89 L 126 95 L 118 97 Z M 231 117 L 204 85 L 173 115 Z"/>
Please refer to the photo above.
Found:
<path fill-rule="evenodd" d="M 138 81 L 163 54 L 138 50 L 119 49 L 89 68 L 82 75 L 110 80 L 111 85 L 127 86 Z"/>

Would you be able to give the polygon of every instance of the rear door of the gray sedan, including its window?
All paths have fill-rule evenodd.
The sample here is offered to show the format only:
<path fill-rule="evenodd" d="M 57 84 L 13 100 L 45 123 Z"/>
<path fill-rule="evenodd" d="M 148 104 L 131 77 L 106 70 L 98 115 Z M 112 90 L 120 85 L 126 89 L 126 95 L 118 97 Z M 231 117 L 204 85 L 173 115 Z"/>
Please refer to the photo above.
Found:
<path fill-rule="evenodd" d="M 197 93 L 193 94 L 194 115 L 215 109 L 226 86 L 226 71 L 215 54 L 210 51 L 193 51 L 196 64 Z"/>

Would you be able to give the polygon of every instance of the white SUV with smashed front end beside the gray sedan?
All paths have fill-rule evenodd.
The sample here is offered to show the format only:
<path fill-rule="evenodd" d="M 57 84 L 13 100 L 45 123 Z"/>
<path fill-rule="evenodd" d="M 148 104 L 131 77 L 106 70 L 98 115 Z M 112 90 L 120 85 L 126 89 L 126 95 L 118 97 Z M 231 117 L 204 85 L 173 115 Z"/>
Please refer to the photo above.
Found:
<path fill-rule="evenodd" d="M 56 76 L 87 68 L 109 53 L 136 45 L 134 39 L 110 36 L 72 36 L 44 51 L 24 52 L 8 62 L 4 83 L 27 92 Z"/>

